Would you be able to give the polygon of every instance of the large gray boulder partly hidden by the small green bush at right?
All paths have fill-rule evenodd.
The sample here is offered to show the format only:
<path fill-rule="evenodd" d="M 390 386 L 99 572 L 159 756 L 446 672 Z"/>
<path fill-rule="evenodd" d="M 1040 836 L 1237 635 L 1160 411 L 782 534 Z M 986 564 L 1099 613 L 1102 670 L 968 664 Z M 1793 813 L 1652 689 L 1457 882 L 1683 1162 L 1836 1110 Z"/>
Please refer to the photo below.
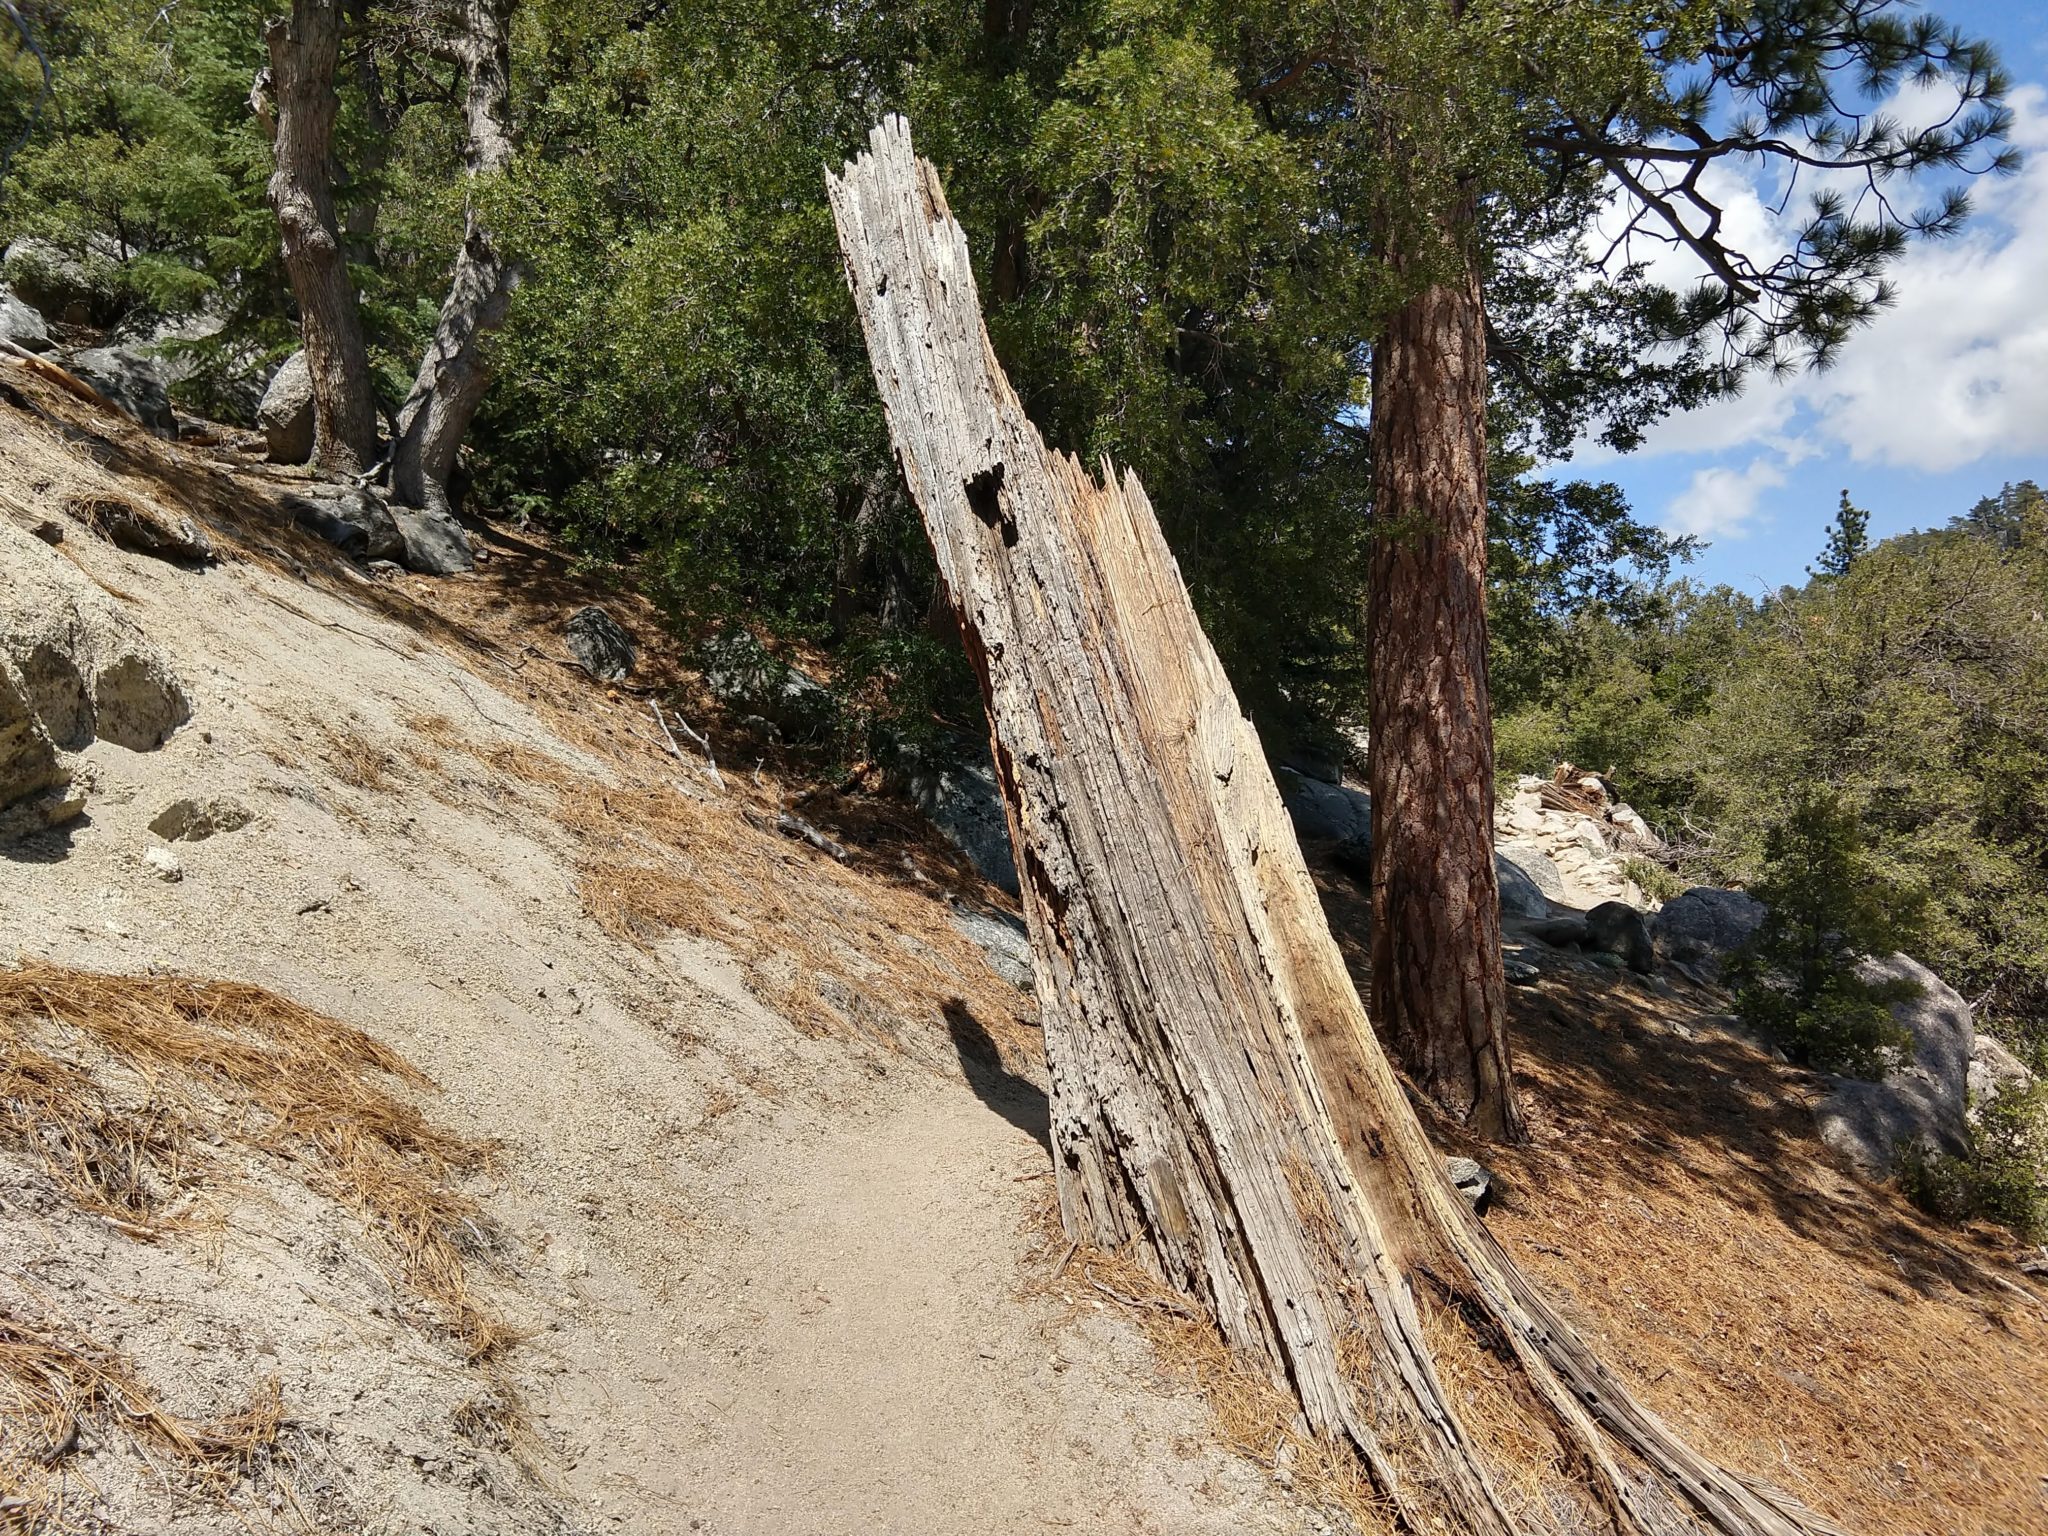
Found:
<path fill-rule="evenodd" d="M 1909 1145 L 1946 1153 L 1966 1149 L 1970 1051 L 1976 1024 L 1970 1006 L 1933 971 L 1905 954 L 1864 961 L 1864 981 L 1913 981 L 1921 995 L 1892 1004 L 1892 1020 L 1913 1034 L 1913 1057 L 1884 1081 L 1835 1077 L 1815 1106 L 1821 1141 L 1864 1174 L 1892 1171 Z"/>

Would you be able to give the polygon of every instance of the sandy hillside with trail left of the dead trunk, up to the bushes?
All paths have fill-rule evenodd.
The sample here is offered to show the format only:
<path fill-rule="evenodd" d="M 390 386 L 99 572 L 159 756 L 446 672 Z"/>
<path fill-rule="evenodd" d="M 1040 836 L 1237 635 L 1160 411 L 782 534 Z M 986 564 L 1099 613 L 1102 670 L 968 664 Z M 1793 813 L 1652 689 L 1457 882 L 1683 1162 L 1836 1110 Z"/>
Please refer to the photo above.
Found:
<path fill-rule="evenodd" d="M 0 1368 L 33 1333 L 119 1356 L 129 1403 L 190 1423 L 272 1380 L 281 1415 L 244 1423 L 248 1454 L 180 1458 L 76 1391 L 41 1444 L 0 1370 L 10 1520 L 1298 1526 L 1135 1327 L 1036 1288 L 1042 1096 L 995 1051 L 1028 1057 L 1028 999 L 950 922 L 948 895 L 987 893 L 946 854 L 883 834 L 842 868 L 774 831 L 793 786 L 668 756 L 645 700 L 559 664 L 580 594 L 535 545 L 373 584 L 266 522 L 256 471 L 27 379 L 16 401 L 4 569 L 90 586 L 190 696 L 156 750 L 86 745 L 84 813 L 0 860 L 0 946 L 43 967 L 49 1014 L 80 1010 L 39 1042 L 106 1075 L 76 973 L 229 977 L 365 1030 L 438 1085 L 406 1102 L 487 1143 L 451 1190 L 475 1305 L 518 1337 L 473 1360 L 303 1147 L 236 1155 L 233 1090 L 201 1096 L 225 1147 L 199 1137 L 178 1194 L 125 1219 L 0 1122 Z M 111 502 L 201 520 L 221 561 L 115 549 L 86 526 Z M 23 532 L 43 520 L 55 547 Z M 250 819 L 154 834 L 180 801 Z M 168 1094 L 129 1090 L 127 1112 Z"/>

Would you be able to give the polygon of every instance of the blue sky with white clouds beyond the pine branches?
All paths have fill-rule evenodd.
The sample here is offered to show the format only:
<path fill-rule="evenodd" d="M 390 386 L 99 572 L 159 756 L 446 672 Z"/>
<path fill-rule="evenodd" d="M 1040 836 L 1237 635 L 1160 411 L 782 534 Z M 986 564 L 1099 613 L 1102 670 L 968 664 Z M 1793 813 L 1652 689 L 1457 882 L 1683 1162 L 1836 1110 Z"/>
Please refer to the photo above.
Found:
<path fill-rule="evenodd" d="M 1980 178 L 1964 231 L 1909 250 L 1896 305 L 1827 373 L 1755 381 L 1632 455 L 1556 467 L 1612 479 L 1636 516 L 1704 537 L 1696 580 L 1749 592 L 1802 580 L 1843 489 L 1882 539 L 1946 522 L 2003 481 L 2048 483 L 2048 0 L 1931 10 L 1999 47 L 2021 172 Z M 1767 238 L 1765 199 L 1733 178 L 1724 190 L 1731 225 L 1747 217 Z"/>

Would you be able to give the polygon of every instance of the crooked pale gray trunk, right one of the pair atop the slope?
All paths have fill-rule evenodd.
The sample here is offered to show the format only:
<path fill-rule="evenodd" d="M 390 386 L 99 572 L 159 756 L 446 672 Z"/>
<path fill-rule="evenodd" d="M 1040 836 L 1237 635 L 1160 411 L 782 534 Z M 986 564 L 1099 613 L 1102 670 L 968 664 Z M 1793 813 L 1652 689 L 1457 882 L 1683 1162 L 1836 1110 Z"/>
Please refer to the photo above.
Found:
<path fill-rule="evenodd" d="M 463 6 L 463 35 L 455 53 L 469 76 L 463 115 L 471 180 L 512 164 L 510 10 L 510 0 L 467 0 Z M 440 305 L 420 375 L 397 414 L 391 489 L 408 506 L 449 510 L 455 455 L 492 383 L 483 365 L 483 338 L 504 324 L 518 279 L 518 266 L 498 248 L 471 193 L 449 297 Z"/>

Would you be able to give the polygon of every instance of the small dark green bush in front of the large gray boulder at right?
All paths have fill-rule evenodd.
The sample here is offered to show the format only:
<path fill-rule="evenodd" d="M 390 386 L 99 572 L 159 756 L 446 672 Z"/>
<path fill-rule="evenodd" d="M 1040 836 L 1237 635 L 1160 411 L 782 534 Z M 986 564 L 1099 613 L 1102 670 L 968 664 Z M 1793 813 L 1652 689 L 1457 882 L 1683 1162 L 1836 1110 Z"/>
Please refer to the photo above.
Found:
<path fill-rule="evenodd" d="M 1919 987 L 1868 981 L 1858 961 L 1911 942 L 1915 901 L 1870 860 L 1855 817 L 1831 795 L 1796 793 L 1765 834 L 1751 895 L 1767 915 L 1729 961 L 1743 1020 L 1800 1063 L 1858 1077 L 1898 1065 L 1913 1036 L 1890 1006 Z"/>

